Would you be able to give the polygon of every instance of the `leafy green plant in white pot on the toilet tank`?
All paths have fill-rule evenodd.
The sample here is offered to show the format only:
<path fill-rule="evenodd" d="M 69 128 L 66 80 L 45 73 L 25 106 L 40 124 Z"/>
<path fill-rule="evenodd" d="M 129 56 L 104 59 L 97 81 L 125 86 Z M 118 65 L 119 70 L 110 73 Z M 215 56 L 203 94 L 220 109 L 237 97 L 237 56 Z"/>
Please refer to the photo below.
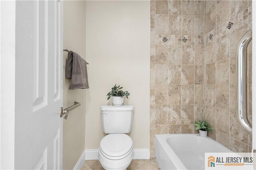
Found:
<path fill-rule="evenodd" d="M 108 96 L 108 99 L 112 96 L 112 105 L 114 106 L 122 106 L 124 105 L 124 96 L 128 99 L 128 96 L 130 93 L 128 91 L 122 91 L 123 87 L 119 86 L 114 86 L 111 88 L 111 91 L 106 95 Z"/>

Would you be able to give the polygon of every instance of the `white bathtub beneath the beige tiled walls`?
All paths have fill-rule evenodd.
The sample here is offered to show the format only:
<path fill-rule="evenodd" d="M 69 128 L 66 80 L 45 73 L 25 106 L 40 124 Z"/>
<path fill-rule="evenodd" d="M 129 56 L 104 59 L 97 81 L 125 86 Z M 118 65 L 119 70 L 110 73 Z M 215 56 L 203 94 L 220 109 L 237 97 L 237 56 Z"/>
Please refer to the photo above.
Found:
<path fill-rule="evenodd" d="M 232 152 L 199 134 L 156 134 L 155 145 L 161 170 L 203 170 L 205 152 Z"/>

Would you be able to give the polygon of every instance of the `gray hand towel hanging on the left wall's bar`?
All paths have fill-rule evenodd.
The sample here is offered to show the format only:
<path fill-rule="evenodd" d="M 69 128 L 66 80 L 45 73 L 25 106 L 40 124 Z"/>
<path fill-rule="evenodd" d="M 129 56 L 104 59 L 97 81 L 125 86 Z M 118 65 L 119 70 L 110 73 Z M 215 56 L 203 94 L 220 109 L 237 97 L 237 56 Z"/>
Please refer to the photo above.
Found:
<path fill-rule="evenodd" d="M 88 89 L 87 62 L 78 53 L 71 52 L 73 55 L 68 53 L 65 73 L 66 79 L 71 79 L 69 89 Z"/>

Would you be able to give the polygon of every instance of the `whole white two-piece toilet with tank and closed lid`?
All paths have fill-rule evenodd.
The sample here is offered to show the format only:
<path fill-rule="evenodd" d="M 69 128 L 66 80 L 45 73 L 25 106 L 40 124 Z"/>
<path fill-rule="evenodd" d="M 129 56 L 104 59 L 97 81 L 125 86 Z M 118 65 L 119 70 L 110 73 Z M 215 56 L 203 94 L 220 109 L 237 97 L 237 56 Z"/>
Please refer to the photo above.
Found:
<path fill-rule="evenodd" d="M 134 106 L 103 105 L 101 120 L 103 132 L 98 158 L 106 170 L 125 170 L 133 158 L 132 138 L 125 133 L 132 130 Z"/>

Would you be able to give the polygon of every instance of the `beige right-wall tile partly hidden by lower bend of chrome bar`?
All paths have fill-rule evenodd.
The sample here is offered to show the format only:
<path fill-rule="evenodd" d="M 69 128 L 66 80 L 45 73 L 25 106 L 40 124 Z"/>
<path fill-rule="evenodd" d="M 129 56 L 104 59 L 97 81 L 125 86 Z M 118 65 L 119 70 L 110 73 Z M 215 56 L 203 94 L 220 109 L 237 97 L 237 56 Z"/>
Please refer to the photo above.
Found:
<path fill-rule="evenodd" d="M 230 111 L 230 137 L 243 143 L 248 143 L 248 133 L 239 125 L 236 112 Z"/>

